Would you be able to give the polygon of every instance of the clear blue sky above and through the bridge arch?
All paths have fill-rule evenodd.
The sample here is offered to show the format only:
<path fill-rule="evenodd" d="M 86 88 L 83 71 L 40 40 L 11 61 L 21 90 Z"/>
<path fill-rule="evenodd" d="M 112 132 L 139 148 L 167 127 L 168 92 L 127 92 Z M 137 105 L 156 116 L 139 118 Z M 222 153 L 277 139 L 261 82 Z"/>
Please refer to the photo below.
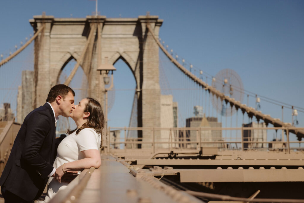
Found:
<path fill-rule="evenodd" d="M 43 11 L 55 17 L 83 18 L 95 11 L 95 1 L 1 1 L 0 53 L 9 53 L 24 41 L 33 32 L 29 19 Z M 304 1 L 99 0 L 98 11 L 109 18 L 150 11 L 164 20 L 160 37 L 180 58 L 210 75 L 233 69 L 244 89 L 304 108 Z M 115 88 L 134 88 L 126 65 L 119 61 L 116 66 L 123 68 L 114 75 Z M 129 92 L 116 92 L 110 126 L 128 126 L 133 101 Z M 254 101 L 250 103 L 254 107 Z M 262 101 L 261 110 L 281 118 L 279 106 Z M 291 110 L 284 114 L 284 121 L 291 122 Z M 299 112 L 298 121 L 304 126 L 304 113 Z"/>

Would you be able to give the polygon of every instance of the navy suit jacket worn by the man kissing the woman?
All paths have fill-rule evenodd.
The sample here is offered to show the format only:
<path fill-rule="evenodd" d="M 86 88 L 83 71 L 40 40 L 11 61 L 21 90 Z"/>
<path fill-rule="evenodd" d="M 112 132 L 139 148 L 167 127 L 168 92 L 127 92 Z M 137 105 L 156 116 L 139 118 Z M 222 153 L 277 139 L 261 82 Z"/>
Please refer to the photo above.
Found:
<path fill-rule="evenodd" d="M 53 170 L 55 130 L 48 103 L 25 117 L 0 178 L 2 187 L 26 201 L 40 197 Z"/>

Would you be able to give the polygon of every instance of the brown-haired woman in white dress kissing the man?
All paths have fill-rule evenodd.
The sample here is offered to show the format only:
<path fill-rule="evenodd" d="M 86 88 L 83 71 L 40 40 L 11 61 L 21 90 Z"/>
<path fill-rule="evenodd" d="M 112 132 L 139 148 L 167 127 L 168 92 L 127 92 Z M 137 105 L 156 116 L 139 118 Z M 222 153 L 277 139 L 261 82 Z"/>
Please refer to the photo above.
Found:
<path fill-rule="evenodd" d="M 73 107 L 70 117 L 77 128 L 68 129 L 68 136 L 58 146 L 53 164 L 57 175 L 49 178 L 44 202 L 49 202 L 59 190 L 67 187 L 68 183 L 61 182 L 61 177 L 67 171 L 80 171 L 92 166 L 98 168 L 101 164 L 98 148 L 101 146 L 104 116 L 100 103 L 92 98 L 85 98 Z"/>

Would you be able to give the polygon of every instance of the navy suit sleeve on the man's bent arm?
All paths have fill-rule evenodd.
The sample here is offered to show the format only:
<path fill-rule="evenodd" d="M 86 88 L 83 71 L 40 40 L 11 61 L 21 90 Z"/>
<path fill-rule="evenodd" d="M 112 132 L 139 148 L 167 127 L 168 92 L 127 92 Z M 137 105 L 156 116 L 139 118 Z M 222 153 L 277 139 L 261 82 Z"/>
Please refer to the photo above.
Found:
<path fill-rule="evenodd" d="M 40 150 L 51 130 L 50 117 L 44 111 L 37 111 L 27 121 L 26 138 L 22 150 L 22 159 L 46 178 L 53 166 L 40 156 Z"/>

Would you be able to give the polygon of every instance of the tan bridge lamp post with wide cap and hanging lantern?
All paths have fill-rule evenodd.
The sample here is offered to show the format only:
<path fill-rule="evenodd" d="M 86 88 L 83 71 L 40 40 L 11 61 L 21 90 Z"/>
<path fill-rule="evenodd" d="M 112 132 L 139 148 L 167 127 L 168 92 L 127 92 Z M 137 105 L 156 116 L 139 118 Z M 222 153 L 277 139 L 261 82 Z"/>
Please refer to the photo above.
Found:
<path fill-rule="evenodd" d="M 104 87 L 104 94 L 105 94 L 105 129 L 106 129 L 106 137 L 108 134 L 108 91 L 112 89 L 113 87 L 113 71 L 116 71 L 116 68 L 108 63 L 108 57 L 105 58 L 105 64 L 102 64 L 97 69 L 100 73 L 100 77 L 103 77 L 103 82 L 105 85 L 109 85 L 111 82 L 111 85 L 109 88 Z M 109 72 L 111 71 L 111 79 L 108 76 Z M 109 146 L 110 147 L 110 146 Z"/>

